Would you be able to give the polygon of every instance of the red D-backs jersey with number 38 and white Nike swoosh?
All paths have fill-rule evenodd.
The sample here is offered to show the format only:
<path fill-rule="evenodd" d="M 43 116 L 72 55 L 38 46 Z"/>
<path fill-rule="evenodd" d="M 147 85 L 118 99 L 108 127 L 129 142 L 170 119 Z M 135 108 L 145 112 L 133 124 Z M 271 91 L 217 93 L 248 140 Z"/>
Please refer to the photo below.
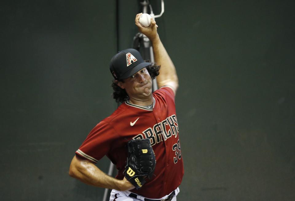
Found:
<path fill-rule="evenodd" d="M 106 155 L 119 170 L 117 179 L 123 179 L 127 159 L 127 142 L 148 138 L 155 152 L 154 175 L 139 190 L 132 192 L 157 199 L 174 191 L 181 183 L 183 157 L 179 142 L 179 128 L 175 111 L 174 90 L 163 86 L 153 92 L 151 109 L 122 103 L 109 117 L 97 124 L 76 154 L 97 162 Z"/>

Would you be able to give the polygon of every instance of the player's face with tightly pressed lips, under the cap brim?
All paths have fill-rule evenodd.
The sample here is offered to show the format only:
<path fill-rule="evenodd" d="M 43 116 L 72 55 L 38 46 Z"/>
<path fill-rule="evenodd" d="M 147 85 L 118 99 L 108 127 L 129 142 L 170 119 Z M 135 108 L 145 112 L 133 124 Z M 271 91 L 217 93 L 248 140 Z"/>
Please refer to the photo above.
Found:
<path fill-rule="evenodd" d="M 152 80 L 146 68 L 124 79 L 119 86 L 126 90 L 130 98 L 134 99 L 148 99 L 152 93 Z"/>

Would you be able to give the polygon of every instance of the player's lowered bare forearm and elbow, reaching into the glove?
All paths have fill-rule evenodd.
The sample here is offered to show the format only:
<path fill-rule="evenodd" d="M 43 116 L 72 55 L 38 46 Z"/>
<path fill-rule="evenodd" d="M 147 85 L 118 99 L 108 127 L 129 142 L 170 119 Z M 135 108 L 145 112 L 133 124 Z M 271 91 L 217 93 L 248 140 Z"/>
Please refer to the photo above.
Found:
<path fill-rule="evenodd" d="M 124 177 L 118 180 L 102 172 L 89 160 L 79 156 L 74 156 L 70 164 L 69 175 L 92 186 L 116 189 L 118 191 L 128 191 L 134 186 Z"/>

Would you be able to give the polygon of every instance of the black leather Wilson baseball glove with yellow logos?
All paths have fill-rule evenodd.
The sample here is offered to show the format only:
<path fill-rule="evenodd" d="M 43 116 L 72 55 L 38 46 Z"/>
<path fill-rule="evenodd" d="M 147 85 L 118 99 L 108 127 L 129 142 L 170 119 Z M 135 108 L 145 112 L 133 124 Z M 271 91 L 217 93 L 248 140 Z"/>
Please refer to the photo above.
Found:
<path fill-rule="evenodd" d="M 131 140 L 127 143 L 128 158 L 124 171 L 126 179 L 136 189 L 145 184 L 145 178 L 153 176 L 156 166 L 155 153 L 149 139 Z"/>

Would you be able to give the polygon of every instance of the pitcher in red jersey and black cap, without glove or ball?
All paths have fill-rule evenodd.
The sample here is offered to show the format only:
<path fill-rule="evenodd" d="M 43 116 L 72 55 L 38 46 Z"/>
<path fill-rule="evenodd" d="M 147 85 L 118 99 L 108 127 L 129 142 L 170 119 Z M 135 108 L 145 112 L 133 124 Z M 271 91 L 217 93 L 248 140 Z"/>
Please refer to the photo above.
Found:
<path fill-rule="evenodd" d="M 135 24 L 150 39 L 156 65 L 145 62 L 135 49 L 113 56 L 110 62 L 113 96 L 122 104 L 91 130 L 76 151 L 69 175 L 86 184 L 113 189 L 110 201 L 176 201 L 184 173 L 175 112 L 178 78 L 160 41 L 155 20 L 151 19 L 149 27 L 142 27 L 141 14 L 136 15 Z M 152 93 L 155 76 L 159 89 Z M 126 145 L 132 139 L 145 138 L 150 140 L 155 153 L 155 171 L 140 189 L 136 189 L 124 176 Z M 116 178 L 96 167 L 95 163 L 104 155 L 116 165 Z"/>

